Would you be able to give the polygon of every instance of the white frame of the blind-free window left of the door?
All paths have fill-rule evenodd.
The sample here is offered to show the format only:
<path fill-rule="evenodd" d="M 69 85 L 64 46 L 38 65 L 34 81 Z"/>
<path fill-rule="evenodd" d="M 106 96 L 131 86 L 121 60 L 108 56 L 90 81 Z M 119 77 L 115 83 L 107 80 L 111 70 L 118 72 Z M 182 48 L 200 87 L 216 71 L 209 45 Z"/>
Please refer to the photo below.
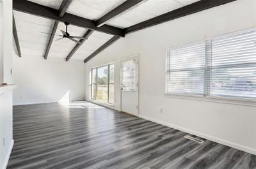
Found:
<path fill-rule="evenodd" d="M 93 101 L 99 101 L 99 102 L 102 102 L 102 103 L 106 103 L 106 104 L 109 104 L 109 105 L 114 105 L 114 103 L 109 103 L 109 85 L 114 85 L 115 86 L 115 77 L 114 77 L 114 81 L 113 81 L 113 83 L 109 83 L 109 68 L 110 68 L 110 65 L 113 65 L 114 66 L 114 72 L 115 72 L 115 64 L 114 64 L 114 62 L 110 62 L 110 63 L 108 63 L 108 64 L 102 64 L 102 65 L 100 65 L 100 66 L 95 66 L 95 67 L 92 67 L 90 70 L 90 72 L 91 72 L 91 75 L 90 75 L 90 99 L 92 99 Z M 97 91 L 98 91 L 98 68 L 102 68 L 102 67 L 105 67 L 105 66 L 108 66 L 108 75 L 107 75 L 107 77 L 108 77 L 108 82 L 107 82 L 107 85 L 108 85 L 108 101 L 106 102 L 106 101 L 102 101 L 102 100 L 99 100 L 99 99 L 97 99 Z M 95 80 L 95 83 L 93 83 L 93 69 L 95 69 L 96 70 L 96 80 Z M 95 84 L 96 85 L 96 98 L 93 98 L 93 90 L 92 90 L 92 87 L 93 87 L 93 84 Z M 114 94 L 114 101 L 113 102 L 115 102 L 115 94 Z"/>

